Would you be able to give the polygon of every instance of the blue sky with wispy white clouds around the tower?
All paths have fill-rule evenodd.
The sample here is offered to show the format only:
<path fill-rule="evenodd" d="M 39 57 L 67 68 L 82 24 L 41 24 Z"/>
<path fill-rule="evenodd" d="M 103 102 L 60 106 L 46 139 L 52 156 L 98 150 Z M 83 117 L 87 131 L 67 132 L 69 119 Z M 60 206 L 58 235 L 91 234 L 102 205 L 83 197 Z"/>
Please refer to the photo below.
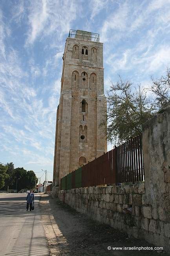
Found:
<path fill-rule="evenodd" d="M 117 74 L 148 87 L 170 67 L 170 0 L 0 1 L 0 162 L 51 180 L 69 29 L 100 33 L 105 91 Z"/>

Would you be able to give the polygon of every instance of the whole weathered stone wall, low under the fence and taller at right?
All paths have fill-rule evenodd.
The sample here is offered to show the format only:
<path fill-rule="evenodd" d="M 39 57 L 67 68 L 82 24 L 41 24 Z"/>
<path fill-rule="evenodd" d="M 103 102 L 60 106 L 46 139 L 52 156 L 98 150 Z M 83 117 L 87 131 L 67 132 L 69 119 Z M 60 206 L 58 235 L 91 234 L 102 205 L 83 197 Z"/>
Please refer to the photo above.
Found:
<path fill-rule="evenodd" d="M 59 191 L 101 223 L 170 252 L 170 105 L 143 126 L 145 182 Z"/>

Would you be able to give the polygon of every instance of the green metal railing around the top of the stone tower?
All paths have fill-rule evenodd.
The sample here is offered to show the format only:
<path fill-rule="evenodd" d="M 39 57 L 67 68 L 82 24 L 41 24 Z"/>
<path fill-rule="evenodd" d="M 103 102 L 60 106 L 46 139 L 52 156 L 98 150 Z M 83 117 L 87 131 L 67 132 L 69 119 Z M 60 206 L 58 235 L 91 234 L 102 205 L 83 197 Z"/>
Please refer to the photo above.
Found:
<path fill-rule="evenodd" d="M 75 38 L 75 39 L 83 39 L 93 42 L 99 42 L 99 34 L 92 33 L 83 30 L 69 30 L 68 37 Z"/>

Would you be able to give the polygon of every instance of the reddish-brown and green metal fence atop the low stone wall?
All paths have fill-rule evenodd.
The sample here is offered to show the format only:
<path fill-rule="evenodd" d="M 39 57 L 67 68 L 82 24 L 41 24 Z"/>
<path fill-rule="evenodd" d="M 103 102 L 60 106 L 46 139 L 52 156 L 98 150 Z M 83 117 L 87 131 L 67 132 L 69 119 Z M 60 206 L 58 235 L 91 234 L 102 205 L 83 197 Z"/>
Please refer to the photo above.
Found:
<path fill-rule="evenodd" d="M 115 147 L 61 179 L 61 190 L 144 180 L 142 135 Z"/>

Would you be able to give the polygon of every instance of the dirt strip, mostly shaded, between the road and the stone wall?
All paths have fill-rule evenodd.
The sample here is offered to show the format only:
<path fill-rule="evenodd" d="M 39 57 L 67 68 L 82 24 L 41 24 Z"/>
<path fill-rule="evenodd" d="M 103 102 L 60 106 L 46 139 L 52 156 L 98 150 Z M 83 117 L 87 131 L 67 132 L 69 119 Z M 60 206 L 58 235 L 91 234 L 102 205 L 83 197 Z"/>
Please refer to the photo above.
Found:
<path fill-rule="evenodd" d="M 88 219 L 84 214 L 48 195 L 42 195 L 40 208 L 51 255 L 169 255 L 155 250 L 108 250 L 108 246 L 152 247 L 153 245 L 138 239 L 129 239 L 125 234 Z"/>

